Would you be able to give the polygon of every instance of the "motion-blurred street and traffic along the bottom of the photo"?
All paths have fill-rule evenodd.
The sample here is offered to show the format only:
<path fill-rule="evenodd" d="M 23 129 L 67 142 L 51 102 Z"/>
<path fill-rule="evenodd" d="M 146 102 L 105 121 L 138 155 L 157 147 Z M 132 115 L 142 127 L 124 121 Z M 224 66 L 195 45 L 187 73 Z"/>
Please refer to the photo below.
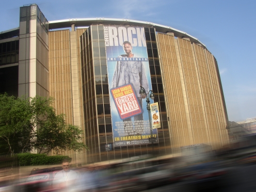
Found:
<path fill-rule="evenodd" d="M 26 177 L 3 175 L 2 171 L 0 191 L 255 191 L 254 137 L 246 136 L 221 150 L 172 157 L 141 156 L 126 162 L 122 159 L 71 168 L 78 179 L 61 185 L 53 183 L 61 167 L 34 169 Z"/>

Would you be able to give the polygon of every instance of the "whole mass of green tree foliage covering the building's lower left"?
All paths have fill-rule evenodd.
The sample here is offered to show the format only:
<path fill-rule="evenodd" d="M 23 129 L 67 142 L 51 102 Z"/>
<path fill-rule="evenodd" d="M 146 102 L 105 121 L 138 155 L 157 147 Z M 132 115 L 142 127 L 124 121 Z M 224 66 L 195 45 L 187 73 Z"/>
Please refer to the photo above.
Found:
<path fill-rule="evenodd" d="M 53 98 L 15 98 L 0 94 L 0 145 L 14 153 L 38 149 L 81 151 L 83 131 L 65 122 L 65 115 L 56 115 Z"/>

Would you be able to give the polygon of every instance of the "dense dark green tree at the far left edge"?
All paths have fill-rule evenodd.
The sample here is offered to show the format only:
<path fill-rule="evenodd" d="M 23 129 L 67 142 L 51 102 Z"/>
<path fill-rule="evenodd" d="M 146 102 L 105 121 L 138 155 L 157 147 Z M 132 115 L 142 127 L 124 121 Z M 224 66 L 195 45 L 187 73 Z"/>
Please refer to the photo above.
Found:
<path fill-rule="evenodd" d="M 0 139 L 1 152 L 23 152 L 31 149 L 30 138 L 34 137 L 30 123 L 29 100 L 0 94 Z M 8 149 L 8 151 L 6 151 Z M 3 150 L 3 151 L 2 151 Z"/>

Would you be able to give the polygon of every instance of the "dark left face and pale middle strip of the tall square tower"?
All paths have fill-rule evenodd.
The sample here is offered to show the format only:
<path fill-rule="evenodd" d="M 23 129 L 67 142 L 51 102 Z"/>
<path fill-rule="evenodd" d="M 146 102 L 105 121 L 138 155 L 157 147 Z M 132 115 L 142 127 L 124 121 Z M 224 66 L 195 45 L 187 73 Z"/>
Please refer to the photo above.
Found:
<path fill-rule="evenodd" d="M 18 95 L 36 95 L 36 6 L 21 7 Z M 35 17 L 35 18 L 34 18 Z"/>

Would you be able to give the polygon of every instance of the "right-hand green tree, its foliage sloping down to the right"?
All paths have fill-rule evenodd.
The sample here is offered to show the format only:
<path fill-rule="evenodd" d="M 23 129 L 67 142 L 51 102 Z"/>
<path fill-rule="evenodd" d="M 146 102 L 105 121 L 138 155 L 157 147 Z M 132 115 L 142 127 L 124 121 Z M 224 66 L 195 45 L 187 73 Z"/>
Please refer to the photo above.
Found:
<path fill-rule="evenodd" d="M 65 115 L 56 115 L 52 107 L 53 98 L 35 97 L 31 100 L 33 108 L 32 122 L 37 125 L 32 146 L 38 153 L 49 153 L 55 150 L 81 151 L 87 149 L 83 143 L 83 131 L 75 125 L 65 122 Z"/>

